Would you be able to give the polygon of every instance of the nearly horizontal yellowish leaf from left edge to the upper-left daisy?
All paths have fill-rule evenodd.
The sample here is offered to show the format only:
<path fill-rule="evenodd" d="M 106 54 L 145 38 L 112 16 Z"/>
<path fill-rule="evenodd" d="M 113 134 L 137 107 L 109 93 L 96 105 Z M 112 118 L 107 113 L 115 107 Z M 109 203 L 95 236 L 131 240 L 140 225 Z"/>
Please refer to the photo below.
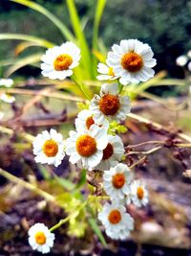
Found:
<path fill-rule="evenodd" d="M 41 39 L 39 37 L 36 36 L 32 36 L 32 35 L 23 35 L 23 34 L 0 34 L 0 40 L 24 40 L 24 41 L 30 41 L 30 42 L 34 42 L 39 46 L 45 47 L 45 48 L 50 48 L 53 47 L 53 43 L 45 40 L 45 39 Z"/>

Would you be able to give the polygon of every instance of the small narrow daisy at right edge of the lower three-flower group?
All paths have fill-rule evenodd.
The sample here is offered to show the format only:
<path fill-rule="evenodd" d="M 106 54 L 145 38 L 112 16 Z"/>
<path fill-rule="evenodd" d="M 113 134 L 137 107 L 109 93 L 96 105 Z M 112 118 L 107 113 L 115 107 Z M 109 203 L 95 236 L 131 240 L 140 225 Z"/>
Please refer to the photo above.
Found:
<path fill-rule="evenodd" d="M 145 184 L 141 180 L 135 180 L 131 184 L 131 199 L 132 202 L 137 206 L 145 206 L 149 202 L 148 191 L 145 188 Z"/>

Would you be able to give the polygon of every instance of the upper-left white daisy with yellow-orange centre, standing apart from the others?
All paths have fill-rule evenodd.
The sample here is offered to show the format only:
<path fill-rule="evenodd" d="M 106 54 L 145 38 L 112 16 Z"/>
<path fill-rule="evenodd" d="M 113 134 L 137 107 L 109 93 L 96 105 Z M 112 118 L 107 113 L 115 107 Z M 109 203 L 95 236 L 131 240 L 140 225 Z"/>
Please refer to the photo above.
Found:
<path fill-rule="evenodd" d="M 52 80 L 65 80 L 73 75 L 73 69 L 78 65 L 79 59 L 80 50 L 73 42 L 54 46 L 42 57 L 42 75 Z"/>

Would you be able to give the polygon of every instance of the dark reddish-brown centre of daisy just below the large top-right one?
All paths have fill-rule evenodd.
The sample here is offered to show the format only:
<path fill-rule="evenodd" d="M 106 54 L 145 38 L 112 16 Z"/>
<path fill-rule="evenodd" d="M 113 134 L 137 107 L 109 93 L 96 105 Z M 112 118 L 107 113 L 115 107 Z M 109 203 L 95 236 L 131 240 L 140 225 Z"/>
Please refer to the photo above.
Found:
<path fill-rule="evenodd" d="M 117 95 L 106 94 L 99 101 L 99 109 L 105 115 L 115 115 L 119 107 Z"/>

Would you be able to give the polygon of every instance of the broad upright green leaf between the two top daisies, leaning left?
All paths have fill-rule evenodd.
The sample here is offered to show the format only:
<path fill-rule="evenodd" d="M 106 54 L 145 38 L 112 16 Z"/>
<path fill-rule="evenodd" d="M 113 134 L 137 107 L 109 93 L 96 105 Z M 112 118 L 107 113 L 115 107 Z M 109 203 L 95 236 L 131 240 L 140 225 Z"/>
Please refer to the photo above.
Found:
<path fill-rule="evenodd" d="M 85 35 L 83 33 L 83 30 L 81 28 L 81 24 L 79 22 L 79 17 L 75 8 L 74 0 L 67 0 L 67 7 L 70 12 L 71 22 L 74 29 L 74 34 L 79 42 L 79 47 L 81 49 L 81 62 L 83 64 L 84 68 L 84 76 L 87 77 L 87 79 L 91 79 L 93 75 L 92 70 L 92 55 L 90 52 L 90 49 L 88 47 L 88 43 L 86 41 Z M 86 72 L 85 72 L 86 71 Z"/>

